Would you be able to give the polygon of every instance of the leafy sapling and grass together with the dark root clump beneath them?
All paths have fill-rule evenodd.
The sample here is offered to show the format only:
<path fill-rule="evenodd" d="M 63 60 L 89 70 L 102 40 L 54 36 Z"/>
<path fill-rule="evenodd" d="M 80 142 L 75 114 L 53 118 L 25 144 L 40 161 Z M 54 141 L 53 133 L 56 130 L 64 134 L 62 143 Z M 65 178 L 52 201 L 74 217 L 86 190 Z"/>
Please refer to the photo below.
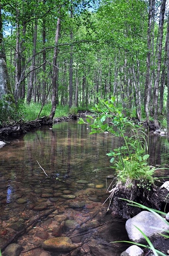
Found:
<path fill-rule="evenodd" d="M 115 207 L 112 208 L 122 208 L 120 211 L 125 218 L 128 217 L 129 211 L 126 209 L 125 215 L 124 207 L 118 205 L 119 197 L 125 196 L 126 199 L 133 201 L 140 197 L 141 201 L 145 200 L 148 203 L 151 200 L 151 194 L 153 197 L 153 192 L 156 190 L 153 177 L 155 168 L 148 165 L 148 136 L 140 125 L 133 124 L 116 107 L 115 97 L 107 101 L 100 99 L 99 104 L 95 104 L 93 112 L 95 116 L 87 116 L 86 121 L 80 118 L 79 124 L 89 124 L 91 134 L 108 132 L 116 136 L 120 142 L 119 148 L 107 153 L 107 156 L 111 157 L 112 168 L 116 171 L 116 186 L 109 188 L 108 210 L 113 200 Z M 128 130 L 130 130 L 130 136 L 126 135 Z M 154 208 L 156 203 L 152 198 L 150 207 Z"/>

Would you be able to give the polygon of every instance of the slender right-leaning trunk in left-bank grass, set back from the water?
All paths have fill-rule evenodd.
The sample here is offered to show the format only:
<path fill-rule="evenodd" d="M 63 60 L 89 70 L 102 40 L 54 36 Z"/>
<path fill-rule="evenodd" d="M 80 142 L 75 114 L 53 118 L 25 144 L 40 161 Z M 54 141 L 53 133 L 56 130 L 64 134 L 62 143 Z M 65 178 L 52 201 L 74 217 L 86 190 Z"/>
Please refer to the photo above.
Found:
<path fill-rule="evenodd" d="M 38 21 L 35 20 L 34 25 L 34 35 L 33 35 L 33 57 L 32 57 L 32 64 L 30 67 L 30 76 L 29 76 L 29 83 L 28 83 L 28 89 L 27 89 L 27 97 L 26 101 L 29 104 L 31 101 L 32 96 L 32 90 L 33 90 L 33 81 L 34 81 L 34 75 L 35 75 L 35 62 L 36 62 L 36 42 L 37 42 L 37 28 L 38 28 Z"/>

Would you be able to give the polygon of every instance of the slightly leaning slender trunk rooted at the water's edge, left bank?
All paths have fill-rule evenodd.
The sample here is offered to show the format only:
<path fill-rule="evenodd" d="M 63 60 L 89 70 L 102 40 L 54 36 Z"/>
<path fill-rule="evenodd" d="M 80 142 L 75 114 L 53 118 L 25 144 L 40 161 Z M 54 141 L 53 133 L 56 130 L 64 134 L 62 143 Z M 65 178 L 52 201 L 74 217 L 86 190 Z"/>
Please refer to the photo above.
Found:
<path fill-rule="evenodd" d="M 52 98 L 51 98 L 51 111 L 50 111 L 50 115 L 49 115 L 50 122 L 52 122 L 53 117 L 55 115 L 56 104 L 57 104 L 56 81 L 57 81 L 57 76 L 58 76 L 58 70 L 57 70 L 58 68 L 57 68 L 56 64 L 57 64 L 57 56 L 58 56 L 59 32 L 60 32 L 60 18 L 57 19 L 56 34 L 55 34 L 55 47 L 54 47 L 54 56 L 53 56 L 53 75 L 52 75 Z"/>

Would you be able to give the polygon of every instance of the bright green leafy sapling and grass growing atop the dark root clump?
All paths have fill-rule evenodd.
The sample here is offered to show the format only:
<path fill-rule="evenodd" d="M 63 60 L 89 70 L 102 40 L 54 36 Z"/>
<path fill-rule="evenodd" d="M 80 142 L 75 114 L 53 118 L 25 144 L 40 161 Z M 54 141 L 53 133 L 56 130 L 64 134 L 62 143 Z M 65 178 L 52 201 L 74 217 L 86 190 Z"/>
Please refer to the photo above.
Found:
<path fill-rule="evenodd" d="M 126 181 L 137 180 L 138 186 L 150 189 L 153 183 L 155 168 L 148 166 L 148 137 L 142 128 L 130 122 L 124 117 L 119 108 L 116 107 L 115 98 L 108 101 L 100 99 L 93 109 L 96 118 L 88 116 L 86 122 L 80 119 L 79 123 L 90 124 L 91 134 L 109 132 L 120 140 L 120 147 L 107 154 L 111 157 L 110 162 L 116 169 L 117 179 L 122 184 Z M 126 131 L 130 129 L 130 136 Z"/>

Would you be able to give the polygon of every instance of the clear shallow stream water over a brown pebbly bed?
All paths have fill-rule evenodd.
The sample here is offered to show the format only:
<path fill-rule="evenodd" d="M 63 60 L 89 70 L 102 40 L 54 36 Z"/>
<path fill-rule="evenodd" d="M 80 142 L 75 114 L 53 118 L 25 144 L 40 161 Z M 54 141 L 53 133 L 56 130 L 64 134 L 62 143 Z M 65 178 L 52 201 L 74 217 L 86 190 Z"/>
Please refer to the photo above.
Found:
<path fill-rule="evenodd" d="M 120 255 L 125 245 L 110 242 L 127 239 L 124 222 L 112 220 L 102 205 L 105 178 L 114 174 L 106 153 L 118 146 L 117 138 L 90 135 L 88 126 L 76 121 L 10 140 L 0 149 L 0 248 L 27 230 L 17 241 L 24 251 L 36 250 L 47 238 L 69 236 L 79 246 L 74 255 Z M 151 165 L 163 164 L 168 149 L 167 138 L 150 134 Z M 164 169 L 157 175 L 168 173 Z M 24 255 L 38 256 L 33 251 Z"/>

